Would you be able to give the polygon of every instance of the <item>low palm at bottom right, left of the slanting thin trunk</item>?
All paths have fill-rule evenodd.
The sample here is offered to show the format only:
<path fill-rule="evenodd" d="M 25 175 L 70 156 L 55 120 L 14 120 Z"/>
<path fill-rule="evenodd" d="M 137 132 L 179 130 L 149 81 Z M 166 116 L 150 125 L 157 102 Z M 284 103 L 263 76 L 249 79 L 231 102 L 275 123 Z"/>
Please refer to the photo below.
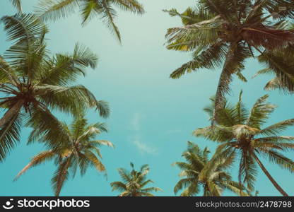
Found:
<path fill-rule="evenodd" d="M 233 163 L 233 157 L 222 158 L 217 163 L 210 163 L 208 148 L 202 151 L 199 146 L 188 142 L 187 151 L 182 157 L 187 162 L 176 162 L 173 165 L 180 167 L 179 182 L 175 185 L 174 192 L 177 194 L 184 189 L 181 196 L 195 196 L 203 189 L 203 196 L 221 196 L 223 190 L 228 189 L 237 195 L 248 196 L 243 192 L 245 187 L 238 182 L 234 182 L 230 174 L 226 171 Z"/>

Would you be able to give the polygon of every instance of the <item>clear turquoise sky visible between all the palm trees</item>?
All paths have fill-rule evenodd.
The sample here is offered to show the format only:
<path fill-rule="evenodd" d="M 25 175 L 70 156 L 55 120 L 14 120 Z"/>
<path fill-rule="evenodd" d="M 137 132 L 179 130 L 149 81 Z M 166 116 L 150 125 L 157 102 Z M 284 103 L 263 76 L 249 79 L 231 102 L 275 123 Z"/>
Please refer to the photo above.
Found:
<path fill-rule="evenodd" d="M 203 107 L 209 104 L 209 98 L 215 94 L 220 70 L 202 69 L 190 73 L 180 79 L 169 78 L 177 67 L 189 61 L 190 54 L 165 49 L 165 33 L 167 28 L 181 25 L 180 18 L 172 18 L 163 9 L 177 8 L 184 11 L 194 6 L 195 0 L 145 0 L 141 1 L 146 9 L 143 16 L 135 16 L 127 12 L 119 12 L 117 24 L 122 33 L 122 45 L 107 30 L 105 25 L 94 18 L 85 27 L 81 27 L 81 17 L 76 13 L 57 23 L 48 23 L 50 33 L 47 35 L 48 47 L 52 54 L 72 52 L 76 42 L 90 47 L 97 53 L 100 60 L 95 71 L 89 69 L 86 78 L 78 83 L 89 88 L 96 97 L 107 100 L 112 110 L 108 119 L 98 117 L 89 112 L 90 122 L 106 122 L 110 131 L 102 134 L 100 139 L 112 141 L 116 148 L 102 148 L 102 162 L 107 167 L 107 178 L 93 168 L 83 177 L 76 175 L 69 179 L 61 190 L 61 196 L 116 196 L 112 192 L 110 182 L 120 180 L 118 167 L 129 169 L 129 163 L 136 167 L 148 164 L 155 187 L 164 192 L 158 196 L 174 196 L 179 170 L 172 167 L 175 161 L 181 161 L 181 154 L 187 141 L 194 141 L 199 146 L 208 146 L 211 151 L 216 143 L 192 136 L 192 131 L 208 126 L 208 117 Z M 33 11 L 37 0 L 23 0 L 23 11 Z M 12 15 L 16 12 L 8 0 L 0 2 L 0 16 Z M 0 54 L 10 46 L 6 41 L 3 25 L 0 26 Z M 243 71 L 249 79 L 242 83 L 235 78 L 231 85 L 229 99 L 237 100 L 241 89 L 244 90 L 243 100 L 251 107 L 257 98 L 265 95 L 263 87 L 271 76 L 251 77 L 262 68 L 256 61 L 249 60 Z M 278 105 L 271 115 L 269 124 L 293 117 L 294 98 L 271 91 L 270 102 Z M 71 121 L 66 114 L 59 114 L 59 119 Z M 33 155 L 44 148 L 41 145 L 26 145 L 30 129 L 23 129 L 21 143 L 11 151 L 4 163 L 0 163 L 0 195 L 1 196 L 52 196 L 50 179 L 56 167 L 46 163 L 33 167 L 13 182 L 16 176 Z M 293 129 L 284 135 L 294 135 Z M 293 158 L 293 154 L 288 154 Z M 292 156 L 292 157 L 291 157 Z M 294 195 L 293 175 L 270 165 L 261 158 L 269 172 L 276 178 L 286 192 Z M 237 170 L 237 166 L 235 166 Z M 233 170 L 234 177 L 237 175 Z M 260 196 L 279 195 L 263 172 L 259 171 L 257 190 Z M 232 195 L 225 193 L 226 195 Z"/>

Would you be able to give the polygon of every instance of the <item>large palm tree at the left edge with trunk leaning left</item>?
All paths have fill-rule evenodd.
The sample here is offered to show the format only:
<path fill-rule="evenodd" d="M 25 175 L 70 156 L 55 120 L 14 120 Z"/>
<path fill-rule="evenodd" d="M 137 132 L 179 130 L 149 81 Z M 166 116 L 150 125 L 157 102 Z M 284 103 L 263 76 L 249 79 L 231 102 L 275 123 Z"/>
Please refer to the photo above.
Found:
<path fill-rule="evenodd" d="M 50 57 L 48 30 L 38 18 L 18 13 L 1 22 L 14 43 L 0 56 L 0 107 L 5 110 L 0 119 L 0 161 L 20 140 L 23 119 L 33 114 L 42 113 L 48 120 L 55 119 L 50 110 L 76 114 L 92 107 L 102 117 L 109 115 L 107 102 L 98 101 L 84 86 L 72 85 L 87 67 L 95 69 L 98 58 L 90 49 L 76 45 L 72 54 Z"/>

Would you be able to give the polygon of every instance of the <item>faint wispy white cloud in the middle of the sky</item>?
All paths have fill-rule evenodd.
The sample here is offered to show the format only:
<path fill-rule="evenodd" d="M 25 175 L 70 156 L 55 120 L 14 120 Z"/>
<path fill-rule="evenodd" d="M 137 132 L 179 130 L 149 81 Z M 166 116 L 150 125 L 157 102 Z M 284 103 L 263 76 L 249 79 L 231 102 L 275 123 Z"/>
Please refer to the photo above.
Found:
<path fill-rule="evenodd" d="M 141 119 L 142 116 L 139 112 L 134 113 L 133 118 L 131 119 L 131 129 L 134 131 L 134 135 L 131 136 L 131 142 L 134 143 L 141 154 L 156 154 L 158 153 L 158 149 L 146 142 L 143 142 L 141 139 Z"/>

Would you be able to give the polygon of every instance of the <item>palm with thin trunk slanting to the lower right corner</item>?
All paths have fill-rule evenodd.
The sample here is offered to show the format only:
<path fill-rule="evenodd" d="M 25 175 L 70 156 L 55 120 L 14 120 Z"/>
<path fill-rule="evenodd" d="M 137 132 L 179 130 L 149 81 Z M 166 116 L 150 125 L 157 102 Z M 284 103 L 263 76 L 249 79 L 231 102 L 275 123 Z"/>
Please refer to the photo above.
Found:
<path fill-rule="evenodd" d="M 288 194 L 271 176 L 259 156 L 268 158 L 271 163 L 279 167 L 294 172 L 294 162 L 283 155 L 284 151 L 294 150 L 294 136 L 281 136 L 281 132 L 288 126 L 294 125 L 294 119 L 288 119 L 270 126 L 261 126 L 269 118 L 269 114 L 274 112 L 275 105 L 267 103 L 268 95 L 259 98 L 253 105 L 250 112 L 242 103 L 242 92 L 236 105 L 224 102 L 222 110 L 218 111 L 218 119 L 215 126 L 208 126 L 204 129 L 196 129 L 195 136 L 201 136 L 211 141 L 217 141 L 220 145 L 216 153 L 218 155 L 237 154 L 239 162 L 239 181 L 246 184 L 249 190 L 254 188 L 254 181 L 257 176 L 257 165 L 269 178 L 274 187 L 283 196 Z M 213 104 L 204 110 L 213 116 Z"/>

